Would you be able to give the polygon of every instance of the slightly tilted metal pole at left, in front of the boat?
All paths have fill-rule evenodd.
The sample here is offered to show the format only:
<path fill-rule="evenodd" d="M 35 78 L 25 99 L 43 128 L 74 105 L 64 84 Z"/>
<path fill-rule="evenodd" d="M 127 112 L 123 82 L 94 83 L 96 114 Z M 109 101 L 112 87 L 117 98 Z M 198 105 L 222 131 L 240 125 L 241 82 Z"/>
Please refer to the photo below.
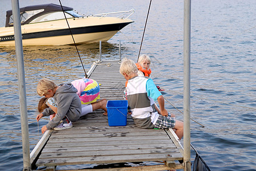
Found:
<path fill-rule="evenodd" d="M 19 105 L 21 106 L 21 133 L 22 133 L 22 150 L 23 150 L 23 170 L 31 170 L 30 150 L 29 150 L 29 124 L 27 122 L 27 99 L 25 85 L 25 71 L 23 60 L 21 21 L 19 11 L 19 1 L 11 0 L 14 18 L 14 39 L 15 51 L 17 56 L 17 70 L 19 83 Z"/>

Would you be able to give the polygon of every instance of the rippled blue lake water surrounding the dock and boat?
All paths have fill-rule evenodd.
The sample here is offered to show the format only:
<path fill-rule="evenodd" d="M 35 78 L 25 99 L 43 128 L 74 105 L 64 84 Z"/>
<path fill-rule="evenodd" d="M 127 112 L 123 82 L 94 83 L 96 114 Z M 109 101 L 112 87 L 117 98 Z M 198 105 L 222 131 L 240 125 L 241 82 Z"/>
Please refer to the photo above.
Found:
<path fill-rule="evenodd" d="M 102 43 L 103 59 L 137 60 L 150 1 L 67 1 L 82 14 L 135 9 L 126 26 Z M 39 4 L 23 0 L 20 7 Z M 57 0 L 46 0 L 56 3 Z M 5 26 L 10 0 L 0 0 L 0 26 Z M 191 7 L 191 144 L 211 170 L 256 170 L 256 1 L 192 1 Z M 98 43 L 78 46 L 86 71 L 99 58 Z M 56 83 L 82 78 L 83 69 L 74 46 L 24 47 L 30 150 L 38 134 L 38 80 Z M 183 1 L 153 1 L 141 54 L 152 59 L 153 80 L 182 110 L 183 100 Z M 17 64 L 14 47 L 0 47 L 0 170 L 22 170 L 22 137 Z M 177 119 L 183 116 L 166 102 Z M 39 122 L 39 129 L 47 120 Z M 191 150 L 191 160 L 195 153 Z"/>

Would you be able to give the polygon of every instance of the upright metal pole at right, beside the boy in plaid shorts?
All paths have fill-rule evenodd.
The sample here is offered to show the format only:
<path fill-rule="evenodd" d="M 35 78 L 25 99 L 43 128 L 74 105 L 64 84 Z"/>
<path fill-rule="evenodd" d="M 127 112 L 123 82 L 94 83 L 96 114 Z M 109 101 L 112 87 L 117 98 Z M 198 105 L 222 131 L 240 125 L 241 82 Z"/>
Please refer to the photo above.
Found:
<path fill-rule="evenodd" d="M 191 0 L 184 1 L 184 164 L 185 170 L 191 170 L 190 161 L 190 26 Z"/>

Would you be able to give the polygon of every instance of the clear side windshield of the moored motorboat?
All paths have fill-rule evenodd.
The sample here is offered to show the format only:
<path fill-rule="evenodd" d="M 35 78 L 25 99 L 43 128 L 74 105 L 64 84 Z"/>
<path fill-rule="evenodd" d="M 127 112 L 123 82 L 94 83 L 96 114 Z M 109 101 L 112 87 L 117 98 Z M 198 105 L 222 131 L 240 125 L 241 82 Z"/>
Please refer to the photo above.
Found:
<path fill-rule="evenodd" d="M 65 11 L 65 12 L 67 12 L 67 11 Z M 70 15 L 68 13 L 65 13 L 65 15 L 66 15 L 66 18 L 74 18 L 73 15 Z M 57 12 L 41 15 L 40 17 L 33 19 L 33 21 L 31 21 L 29 23 L 54 21 L 54 20 L 58 20 L 58 19 L 65 19 L 65 16 L 62 11 L 57 11 Z"/>

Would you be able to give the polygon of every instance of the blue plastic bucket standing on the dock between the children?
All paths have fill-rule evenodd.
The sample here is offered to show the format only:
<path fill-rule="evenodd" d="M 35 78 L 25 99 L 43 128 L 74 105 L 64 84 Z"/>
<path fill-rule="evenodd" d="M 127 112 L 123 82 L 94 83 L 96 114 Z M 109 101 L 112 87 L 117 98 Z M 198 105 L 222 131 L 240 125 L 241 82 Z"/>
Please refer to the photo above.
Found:
<path fill-rule="evenodd" d="M 127 100 L 109 100 L 107 101 L 107 119 L 109 126 L 126 126 L 127 123 Z"/>

